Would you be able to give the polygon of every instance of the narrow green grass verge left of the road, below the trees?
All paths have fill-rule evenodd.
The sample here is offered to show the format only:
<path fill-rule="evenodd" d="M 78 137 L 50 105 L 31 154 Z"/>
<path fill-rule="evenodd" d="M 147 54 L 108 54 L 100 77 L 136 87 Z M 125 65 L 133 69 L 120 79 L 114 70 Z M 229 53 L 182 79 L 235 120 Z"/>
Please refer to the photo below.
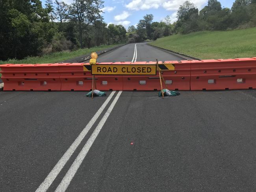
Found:
<path fill-rule="evenodd" d="M 120 44 L 121 45 L 121 44 Z M 79 49 L 76 51 L 68 52 L 56 52 L 48 55 L 43 55 L 41 57 L 26 57 L 25 59 L 17 60 L 17 59 L 9 59 L 7 61 L 0 61 L 0 64 L 6 64 L 6 63 L 12 63 L 12 64 L 38 64 L 38 63 L 59 63 L 61 61 L 65 61 L 67 59 L 72 59 L 74 57 L 78 57 L 81 55 L 91 54 L 92 52 L 97 52 L 100 50 L 113 48 L 115 45 L 102 45 L 98 47 L 93 48 L 85 48 L 85 49 Z"/>

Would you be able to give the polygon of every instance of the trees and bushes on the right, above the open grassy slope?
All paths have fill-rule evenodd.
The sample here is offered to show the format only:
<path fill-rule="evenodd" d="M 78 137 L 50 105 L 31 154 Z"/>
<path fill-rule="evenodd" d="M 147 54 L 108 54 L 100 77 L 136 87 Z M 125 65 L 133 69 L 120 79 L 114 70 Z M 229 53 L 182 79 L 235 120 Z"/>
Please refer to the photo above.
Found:
<path fill-rule="evenodd" d="M 177 12 L 177 22 L 171 24 L 167 16 L 161 22 L 152 22 L 153 15 L 146 15 L 139 20 L 137 28 L 128 28 L 128 41 L 140 42 L 146 39 L 175 33 L 187 34 L 203 30 L 233 30 L 256 26 L 256 0 L 236 0 L 231 9 L 221 7 L 217 0 L 208 0 L 207 6 L 198 10 L 189 1 L 180 5 Z"/>

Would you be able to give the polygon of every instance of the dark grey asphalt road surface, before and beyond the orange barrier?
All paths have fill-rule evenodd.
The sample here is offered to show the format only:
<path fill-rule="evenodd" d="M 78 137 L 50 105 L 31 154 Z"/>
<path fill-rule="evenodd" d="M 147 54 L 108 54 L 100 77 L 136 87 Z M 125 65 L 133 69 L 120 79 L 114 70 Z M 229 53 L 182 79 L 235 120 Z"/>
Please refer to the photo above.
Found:
<path fill-rule="evenodd" d="M 183 59 L 137 44 L 156 58 Z M 256 90 L 157 93 L 0 92 L 0 191 L 255 192 Z"/>

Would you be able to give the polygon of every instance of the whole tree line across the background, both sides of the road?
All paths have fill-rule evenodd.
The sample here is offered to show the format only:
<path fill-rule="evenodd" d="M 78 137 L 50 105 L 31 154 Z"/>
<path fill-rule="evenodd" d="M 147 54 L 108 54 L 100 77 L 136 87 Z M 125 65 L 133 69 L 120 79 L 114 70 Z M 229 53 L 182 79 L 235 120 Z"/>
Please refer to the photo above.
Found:
<path fill-rule="evenodd" d="M 235 0 L 231 9 L 208 0 L 198 10 L 189 1 L 180 5 L 177 21 L 171 17 L 153 22 L 147 14 L 128 33 L 122 25 L 103 21 L 102 0 L 0 0 L 0 60 L 22 59 L 63 50 L 101 44 L 156 40 L 175 33 L 202 30 L 232 30 L 256 26 L 256 0 Z"/>

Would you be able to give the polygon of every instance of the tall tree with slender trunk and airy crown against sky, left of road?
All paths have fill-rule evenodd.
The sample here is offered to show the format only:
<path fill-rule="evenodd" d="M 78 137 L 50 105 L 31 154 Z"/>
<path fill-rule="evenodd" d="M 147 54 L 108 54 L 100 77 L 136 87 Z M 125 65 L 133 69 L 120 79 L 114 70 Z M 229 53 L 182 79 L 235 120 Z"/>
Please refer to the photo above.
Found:
<path fill-rule="evenodd" d="M 100 9 L 103 8 L 102 0 L 74 0 L 70 7 L 70 15 L 78 23 L 80 46 L 83 48 L 83 30 L 95 20 L 102 20 Z"/>

